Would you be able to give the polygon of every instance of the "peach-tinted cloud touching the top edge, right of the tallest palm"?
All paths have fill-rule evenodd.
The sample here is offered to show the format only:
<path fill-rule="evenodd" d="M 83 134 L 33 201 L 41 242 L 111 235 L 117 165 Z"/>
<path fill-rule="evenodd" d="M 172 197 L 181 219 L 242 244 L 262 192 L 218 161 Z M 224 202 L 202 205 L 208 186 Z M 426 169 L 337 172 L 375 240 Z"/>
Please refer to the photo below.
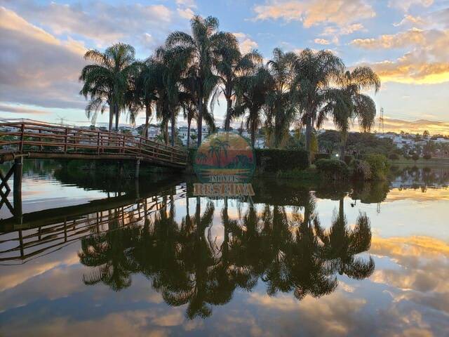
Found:
<path fill-rule="evenodd" d="M 346 26 L 354 21 L 375 17 L 370 4 L 362 0 L 272 0 L 254 7 L 255 20 L 301 21 L 304 27 L 323 23 Z"/>

